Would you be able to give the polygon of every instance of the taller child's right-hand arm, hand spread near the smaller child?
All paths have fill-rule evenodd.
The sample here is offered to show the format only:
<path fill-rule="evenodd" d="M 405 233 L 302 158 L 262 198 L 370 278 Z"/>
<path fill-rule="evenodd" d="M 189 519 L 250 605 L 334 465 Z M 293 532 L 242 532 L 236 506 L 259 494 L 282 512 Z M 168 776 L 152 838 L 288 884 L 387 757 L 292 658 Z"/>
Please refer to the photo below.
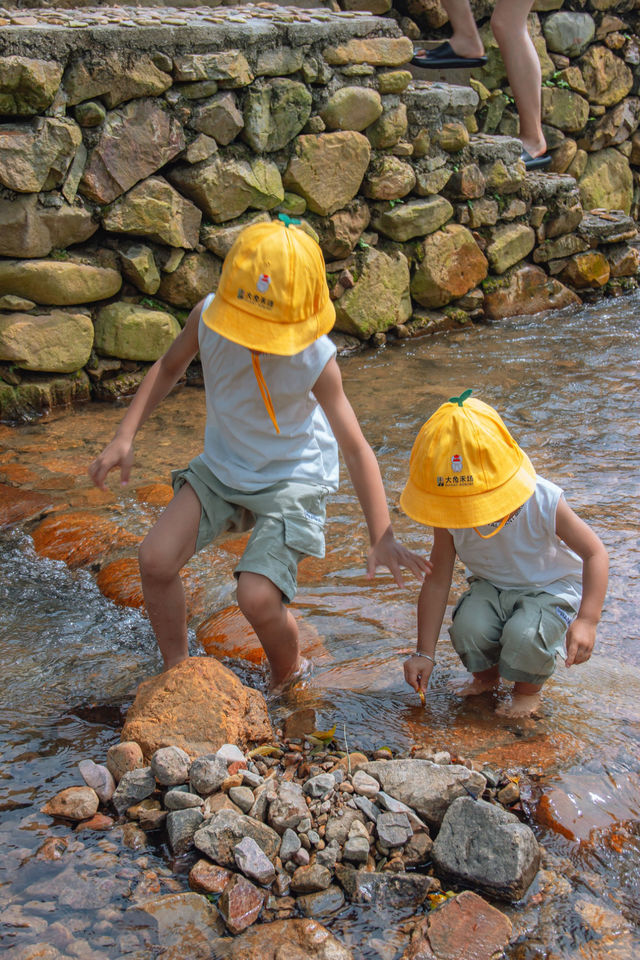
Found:
<path fill-rule="evenodd" d="M 376 567 L 383 565 L 389 568 L 395 582 L 402 587 L 404 582 L 400 568 L 408 567 L 421 580 L 430 566 L 424 558 L 398 543 L 393 535 L 378 461 L 347 400 L 335 357 L 329 360 L 316 380 L 313 394 L 338 441 L 367 521 L 371 542 L 367 575 L 373 577 Z"/>

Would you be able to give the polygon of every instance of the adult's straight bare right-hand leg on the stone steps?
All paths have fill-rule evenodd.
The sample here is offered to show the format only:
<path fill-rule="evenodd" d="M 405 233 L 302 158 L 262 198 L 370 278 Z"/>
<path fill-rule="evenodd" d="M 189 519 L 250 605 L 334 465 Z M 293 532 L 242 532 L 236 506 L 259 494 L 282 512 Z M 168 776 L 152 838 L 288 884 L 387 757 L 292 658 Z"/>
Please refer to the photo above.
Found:
<path fill-rule="evenodd" d="M 542 132 L 542 74 L 536 48 L 527 30 L 533 0 L 497 0 L 491 29 L 498 41 L 509 86 L 520 118 L 520 139 L 532 157 L 546 152 Z"/>

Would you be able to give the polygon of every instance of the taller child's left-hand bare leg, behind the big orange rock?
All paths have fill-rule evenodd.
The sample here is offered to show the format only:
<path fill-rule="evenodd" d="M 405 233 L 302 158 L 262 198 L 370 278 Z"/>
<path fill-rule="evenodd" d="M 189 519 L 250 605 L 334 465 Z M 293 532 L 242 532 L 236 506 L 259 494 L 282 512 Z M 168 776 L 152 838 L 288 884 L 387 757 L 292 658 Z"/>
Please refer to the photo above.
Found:
<path fill-rule="evenodd" d="M 195 551 L 200 513 L 200 501 L 193 488 L 183 484 L 138 552 L 144 602 L 165 670 L 189 656 L 186 604 L 179 572 Z"/>

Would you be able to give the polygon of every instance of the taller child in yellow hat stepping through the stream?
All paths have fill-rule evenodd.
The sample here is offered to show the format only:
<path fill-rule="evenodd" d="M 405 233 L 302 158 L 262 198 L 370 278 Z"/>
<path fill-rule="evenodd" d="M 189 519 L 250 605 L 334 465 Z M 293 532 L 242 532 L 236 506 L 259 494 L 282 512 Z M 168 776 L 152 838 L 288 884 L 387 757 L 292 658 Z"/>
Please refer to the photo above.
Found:
<path fill-rule="evenodd" d="M 335 320 L 320 248 L 294 222 L 247 227 L 225 259 L 215 297 L 149 370 L 110 444 L 89 467 L 104 488 L 120 467 L 129 479 L 133 439 L 198 350 L 207 422 L 204 450 L 173 474 L 174 498 L 140 546 L 147 613 L 165 669 L 189 655 L 178 573 L 218 534 L 253 533 L 236 567 L 238 604 L 264 647 L 272 687 L 299 673 L 296 622 L 286 604 L 299 560 L 324 556 L 327 494 L 338 486 L 340 446 L 369 529 L 367 573 L 426 561 L 394 538 L 380 470 L 344 394 Z M 264 373 L 263 373 L 264 368 Z"/>

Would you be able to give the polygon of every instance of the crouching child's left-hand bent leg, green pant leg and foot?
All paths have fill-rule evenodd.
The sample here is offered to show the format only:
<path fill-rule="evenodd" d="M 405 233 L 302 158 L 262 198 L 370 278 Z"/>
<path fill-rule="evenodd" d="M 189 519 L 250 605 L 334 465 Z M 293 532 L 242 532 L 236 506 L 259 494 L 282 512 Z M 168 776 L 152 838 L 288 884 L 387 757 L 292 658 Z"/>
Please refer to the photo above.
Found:
<path fill-rule="evenodd" d="M 455 689 L 459 696 L 486 693 L 498 685 L 503 622 L 499 590 L 487 580 L 473 581 L 449 628 L 454 649 L 472 674 L 469 682 Z"/>

